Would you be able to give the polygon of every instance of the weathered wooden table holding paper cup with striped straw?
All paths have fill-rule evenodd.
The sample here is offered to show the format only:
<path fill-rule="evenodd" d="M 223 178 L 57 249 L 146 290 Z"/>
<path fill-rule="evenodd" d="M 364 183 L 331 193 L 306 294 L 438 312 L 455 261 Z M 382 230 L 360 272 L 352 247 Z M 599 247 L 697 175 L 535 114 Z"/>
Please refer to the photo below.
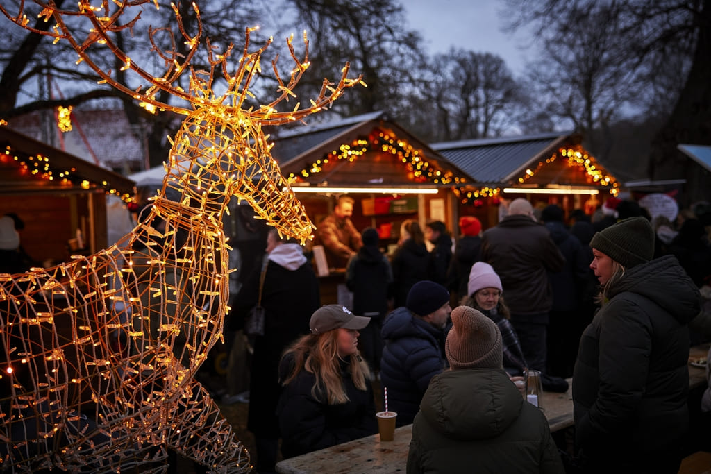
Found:
<path fill-rule="evenodd" d="M 697 345 L 689 351 L 689 357 L 705 357 L 709 344 Z M 706 384 L 705 370 L 689 365 L 689 387 Z M 567 379 L 565 394 L 543 392 L 542 408 L 550 431 L 555 432 L 573 425 L 572 379 Z M 410 450 L 412 425 L 395 430 L 395 441 L 380 442 L 374 434 L 348 443 L 306 453 L 277 463 L 277 473 L 404 473 L 407 452 Z"/>

